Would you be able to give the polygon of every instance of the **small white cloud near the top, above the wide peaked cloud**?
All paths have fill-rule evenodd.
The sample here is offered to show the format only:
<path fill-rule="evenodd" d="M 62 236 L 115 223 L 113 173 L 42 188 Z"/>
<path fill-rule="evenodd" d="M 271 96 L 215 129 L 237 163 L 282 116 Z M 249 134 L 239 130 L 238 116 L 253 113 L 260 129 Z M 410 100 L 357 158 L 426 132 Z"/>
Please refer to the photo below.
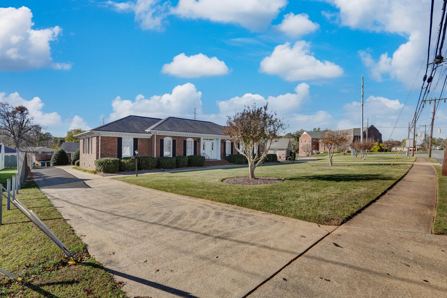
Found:
<path fill-rule="evenodd" d="M 299 37 L 304 34 L 311 33 L 320 28 L 320 25 L 309 20 L 306 13 L 293 14 L 288 13 L 284 16 L 281 24 L 277 28 L 291 37 Z"/>

